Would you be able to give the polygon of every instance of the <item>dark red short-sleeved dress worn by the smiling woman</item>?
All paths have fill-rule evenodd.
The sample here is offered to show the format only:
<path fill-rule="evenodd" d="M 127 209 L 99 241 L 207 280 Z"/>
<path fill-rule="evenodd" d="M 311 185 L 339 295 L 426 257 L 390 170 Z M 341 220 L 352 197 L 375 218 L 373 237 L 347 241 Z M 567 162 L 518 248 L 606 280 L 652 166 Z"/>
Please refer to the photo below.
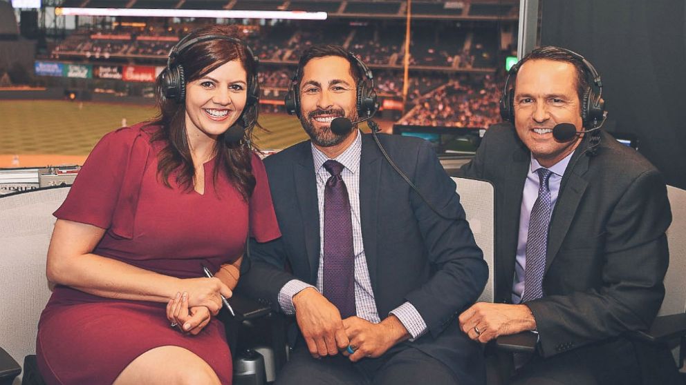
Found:
<path fill-rule="evenodd" d="M 264 166 L 255 155 L 257 184 L 250 205 L 220 173 L 205 164 L 205 194 L 167 188 L 157 175 L 160 142 L 155 126 L 138 124 L 105 135 L 55 217 L 106 229 L 93 253 L 156 273 L 202 277 L 258 241 L 280 237 Z M 98 297 L 57 286 L 39 321 L 36 352 L 47 384 L 112 384 L 133 359 L 159 346 L 180 346 L 210 364 L 230 384 L 231 354 L 223 324 L 212 319 L 196 336 L 169 327 L 166 304 Z"/>

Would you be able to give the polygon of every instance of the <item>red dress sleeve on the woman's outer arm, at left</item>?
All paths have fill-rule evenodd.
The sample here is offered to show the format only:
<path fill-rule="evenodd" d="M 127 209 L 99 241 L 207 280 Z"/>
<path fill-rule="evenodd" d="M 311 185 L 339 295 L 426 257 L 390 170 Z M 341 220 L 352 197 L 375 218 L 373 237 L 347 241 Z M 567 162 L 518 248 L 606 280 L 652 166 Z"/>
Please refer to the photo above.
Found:
<path fill-rule="evenodd" d="M 133 141 L 128 134 L 122 129 L 100 139 L 55 217 L 110 228 Z"/>

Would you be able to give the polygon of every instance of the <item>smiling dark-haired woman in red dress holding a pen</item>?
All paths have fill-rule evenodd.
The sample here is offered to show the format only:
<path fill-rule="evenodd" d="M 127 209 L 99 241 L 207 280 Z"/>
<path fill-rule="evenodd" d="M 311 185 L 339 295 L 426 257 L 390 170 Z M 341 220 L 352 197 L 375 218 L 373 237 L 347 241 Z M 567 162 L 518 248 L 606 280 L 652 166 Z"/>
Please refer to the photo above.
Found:
<path fill-rule="evenodd" d="M 48 384 L 230 384 L 220 294 L 248 226 L 280 236 L 248 146 L 257 60 L 235 36 L 182 39 L 158 77 L 158 119 L 105 135 L 55 212 L 36 348 Z"/>

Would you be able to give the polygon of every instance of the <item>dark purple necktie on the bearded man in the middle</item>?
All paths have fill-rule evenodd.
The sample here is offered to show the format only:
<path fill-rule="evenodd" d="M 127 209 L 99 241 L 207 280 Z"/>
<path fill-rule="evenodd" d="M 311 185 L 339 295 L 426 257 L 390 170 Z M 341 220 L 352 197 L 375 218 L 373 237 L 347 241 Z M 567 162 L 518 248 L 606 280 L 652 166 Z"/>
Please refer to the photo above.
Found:
<path fill-rule="evenodd" d="M 355 253 L 348 189 L 341 177 L 343 165 L 324 162 L 331 174 L 324 187 L 324 297 L 342 318 L 355 315 Z"/>

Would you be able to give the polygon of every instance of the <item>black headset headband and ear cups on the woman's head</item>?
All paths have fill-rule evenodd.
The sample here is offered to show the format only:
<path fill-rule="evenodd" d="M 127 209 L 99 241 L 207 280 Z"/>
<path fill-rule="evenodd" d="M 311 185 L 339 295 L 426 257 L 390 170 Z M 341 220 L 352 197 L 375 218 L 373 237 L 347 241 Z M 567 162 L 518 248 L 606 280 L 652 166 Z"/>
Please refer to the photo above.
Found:
<path fill-rule="evenodd" d="M 252 61 L 255 63 L 255 68 L 259 65 L 259 59 L 252 53 L 250 46 L 246 44 L 241 39 L 237 39 L 232 36 L 225 34 L 210 34 L 203 37 L 196 37 L 194 39 L 189 39 L 191 35 L 186 35 L 183 39 L 180 39 L 178 43 L 172 50 L 169 51 L 169 59 L 167 59 L 167 68 L 163 70 L 160 74 L 162 77 L 162 90 L 167 99 L 174 99 L 178 103 L 184 101 L 186 97 L 186 77 L 183 73 L 183 66 L 177 62 L 178 56 L 182 52 L 187 50 L 189 47 L 196 43 L 201 43 L 203 41 L 209 40 L 227 40 L 233 43 L 237 43 L 248 51 L 248 55 L 252 57 Z M 248 98 L 245 101 L 245 107 L 250 107 L 255 105 L 259 101 L 259 87 L 257 85 L 257 70 L 254 71 L 252 77 L 248 79 Z"/>

